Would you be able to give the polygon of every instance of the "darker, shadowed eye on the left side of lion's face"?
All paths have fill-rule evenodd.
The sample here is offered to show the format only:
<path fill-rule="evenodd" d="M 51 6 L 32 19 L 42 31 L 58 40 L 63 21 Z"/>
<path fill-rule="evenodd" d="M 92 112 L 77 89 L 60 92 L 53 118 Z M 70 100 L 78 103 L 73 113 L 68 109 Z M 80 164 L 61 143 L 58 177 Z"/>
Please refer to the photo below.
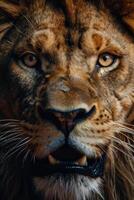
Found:
<path fill-rule="evenodd" d="M 20 58 L 23 65 L 33 68 L 37 66 L 39 62 L 38 57 L 34 53 L 25 53 Z"/>

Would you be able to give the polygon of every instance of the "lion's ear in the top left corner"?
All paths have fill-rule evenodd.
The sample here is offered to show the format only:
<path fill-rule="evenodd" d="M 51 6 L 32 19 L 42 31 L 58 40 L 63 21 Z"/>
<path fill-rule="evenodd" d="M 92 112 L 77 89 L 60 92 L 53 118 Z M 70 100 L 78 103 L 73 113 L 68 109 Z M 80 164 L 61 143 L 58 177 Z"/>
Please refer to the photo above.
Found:
<path fill-rule="evenodd" d="M 21 10 L 22 7 L 17 0 L 0 0 L 0 39 L 19 16 Z"/>

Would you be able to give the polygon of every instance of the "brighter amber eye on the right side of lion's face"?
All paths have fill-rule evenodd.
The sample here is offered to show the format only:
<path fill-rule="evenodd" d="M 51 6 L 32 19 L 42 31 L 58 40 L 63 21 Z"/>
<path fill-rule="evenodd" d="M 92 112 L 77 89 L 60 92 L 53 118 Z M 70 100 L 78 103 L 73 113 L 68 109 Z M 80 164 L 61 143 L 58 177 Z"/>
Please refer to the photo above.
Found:
<path fill-rule="evenodd" d="M 103 53 L 99 56 L 97 64 L 100 67 L 109 67 L 114 63 L 115 59 L 116 59 L 116 56 L 109 53 Z"/>

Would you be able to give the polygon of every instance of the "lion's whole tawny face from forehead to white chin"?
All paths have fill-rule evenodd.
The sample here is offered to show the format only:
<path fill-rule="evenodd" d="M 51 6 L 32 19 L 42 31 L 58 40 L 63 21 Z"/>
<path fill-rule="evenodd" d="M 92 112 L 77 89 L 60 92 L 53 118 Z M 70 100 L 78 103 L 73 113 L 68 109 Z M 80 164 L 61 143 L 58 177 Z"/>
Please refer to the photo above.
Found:
<path fill-rule="evenodd" d="M 2 57 L 4 156 L 21 157 L 43 199 L 102 195 L 133 104 L 132 37 L 107 9 L 78 1 L 74 12 L 31 5 Z"/>

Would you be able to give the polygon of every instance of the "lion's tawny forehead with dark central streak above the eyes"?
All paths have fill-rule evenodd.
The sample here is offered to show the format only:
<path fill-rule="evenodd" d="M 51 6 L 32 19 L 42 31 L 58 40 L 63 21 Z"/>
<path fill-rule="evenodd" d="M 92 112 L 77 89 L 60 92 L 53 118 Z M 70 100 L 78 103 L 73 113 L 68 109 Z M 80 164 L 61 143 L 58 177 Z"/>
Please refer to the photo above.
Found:
<path fill-rule="evenodd" d="M 32 46 L 35 49 L 40 48 L 44 53 L 56 54 L 61 65 L 68 61 L 68 54 L 71 54 L 73 64 L 76 61 L 76 65 L 83 65 L 85 55 L 98 54 L 108 48 L 119 54 L 122 49 L 125 51 L 126 38 L 119 32 L 108 11 L 98 11 L 93 5 L 87 6 L 83 1 L 76 7 L 76 21 L 68 26 L 68 16 L 48 6 L 43 17 L 36 21 L 34 30 L 32 29 L 29 41 Z M 49 17 L 44 17 L 48 14 Z M 76 51 L 76 48 L 80 51 Z"/>

